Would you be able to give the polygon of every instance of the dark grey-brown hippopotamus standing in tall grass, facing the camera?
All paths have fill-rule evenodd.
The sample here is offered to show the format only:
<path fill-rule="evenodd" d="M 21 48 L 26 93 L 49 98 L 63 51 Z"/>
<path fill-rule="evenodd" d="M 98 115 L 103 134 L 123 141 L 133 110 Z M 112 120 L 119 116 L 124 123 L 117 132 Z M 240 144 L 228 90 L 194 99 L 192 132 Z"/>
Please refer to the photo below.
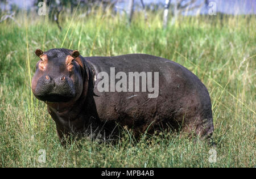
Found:
<path fill-rule="evenodd" d="M 65 136 L 110 139 L 167 130 L 209 138 L 207 88 L 184 66 L 148 54 L 82 57 L 77 50 L 36 49 L 34 96 L 47 104 L 61 141 Z"/>

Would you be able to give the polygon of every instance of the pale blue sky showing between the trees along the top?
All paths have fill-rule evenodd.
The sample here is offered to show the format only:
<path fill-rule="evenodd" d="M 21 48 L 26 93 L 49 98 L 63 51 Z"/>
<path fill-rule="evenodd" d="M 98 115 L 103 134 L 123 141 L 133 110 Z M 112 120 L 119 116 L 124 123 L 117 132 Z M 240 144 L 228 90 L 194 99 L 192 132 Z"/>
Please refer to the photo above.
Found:
<path fill-rule="evenodd" d="M 139 5 L 140 0 L 134 0 Z M 164 3 L 165 0 L 143 0 L 145 4 L 148 3 Z M 203 0 L 198 0 L 200 3 Z M 209 2 L 216 2 L 217 12 L 225 14 L 256 14 L 256 0 L 209 0 Z M 9 3 L 15 3 L 19 7 L 23 8 L 26 3 L 27 7 L 31 7 L 34 3 L 33 0 L 8 0 Z M 118 3 L 118 7 L 127 7 L 127 0 L 123 0 L 124 3 Z M 171 0 L 172 3 L 175 0 Z M 1 5 L 2 7 L 2 5 Z M 3 7 L 2 7 L 3 8 Z M 207 13 L 209 7 L 205 6 L 201 10 L 201 14 Z M 191 12 L 193 14 L 194 12 Z"/>

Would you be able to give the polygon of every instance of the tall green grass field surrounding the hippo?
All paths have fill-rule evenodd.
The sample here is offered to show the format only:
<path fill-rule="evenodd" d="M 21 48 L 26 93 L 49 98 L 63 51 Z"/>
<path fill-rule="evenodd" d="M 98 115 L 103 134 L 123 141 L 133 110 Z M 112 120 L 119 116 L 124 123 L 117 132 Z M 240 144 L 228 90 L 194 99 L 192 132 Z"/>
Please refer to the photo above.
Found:
<path fill-rule="evenodd" d="M 109 12 L 61 20 L 20 12 L 20 25 L 0 23 L 0 167 L 255 167 L 256 18 L 181 17 L 167 29 L 162 14 L 135 14 L 133 23 Z M 212 99 L 215 147 L 162 134 L 117 144 L 82 139 L 63 148 L 46 104 L 31 93 L 35 49 L 78 49 L 83 56 L 146 53 L 195 73 Z M 40 163 L 40 149 L 46 163 Z M 216 150 L 216 163 L 210 163 Z"/>

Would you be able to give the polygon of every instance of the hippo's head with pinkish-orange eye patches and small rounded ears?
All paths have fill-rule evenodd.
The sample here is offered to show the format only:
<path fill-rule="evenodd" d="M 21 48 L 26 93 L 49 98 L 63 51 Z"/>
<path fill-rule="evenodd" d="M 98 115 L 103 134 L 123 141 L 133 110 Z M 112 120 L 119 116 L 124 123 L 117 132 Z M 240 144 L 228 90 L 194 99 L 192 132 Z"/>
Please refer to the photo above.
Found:
<path fill-rule="evenodd" d="M 40 60 L 32 78 L 32 92 L 39 100 L 51 103 L 79 99 L 83 90 L 84 63 L 77 50 L 35 51 Z"/>

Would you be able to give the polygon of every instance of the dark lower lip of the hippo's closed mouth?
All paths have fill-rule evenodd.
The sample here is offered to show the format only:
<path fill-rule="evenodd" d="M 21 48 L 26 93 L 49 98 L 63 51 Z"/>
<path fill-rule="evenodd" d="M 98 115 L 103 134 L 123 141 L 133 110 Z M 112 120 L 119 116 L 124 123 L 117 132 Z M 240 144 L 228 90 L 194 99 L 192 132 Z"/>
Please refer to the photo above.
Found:
<path fill-rule="evenodd" d="M 39 100 L 47 101 L 51 103 L 60 103 L 60 102 L 68 102 L 73 99 L 74 96 L 64 96 L 60 94 L 49 94 L 44 96 L 36 96 Z"/>

